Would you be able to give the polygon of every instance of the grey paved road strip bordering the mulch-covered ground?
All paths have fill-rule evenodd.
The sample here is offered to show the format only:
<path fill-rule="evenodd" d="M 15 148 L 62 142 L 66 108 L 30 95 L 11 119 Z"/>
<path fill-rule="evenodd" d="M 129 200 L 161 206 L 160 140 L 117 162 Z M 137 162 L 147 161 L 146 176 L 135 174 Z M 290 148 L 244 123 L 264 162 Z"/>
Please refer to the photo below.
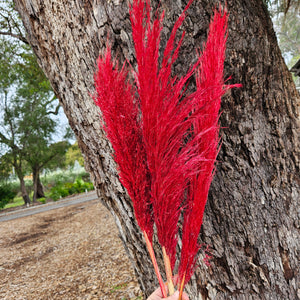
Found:
<path fill-rule="evenodd" d="M 28 208 L 21 208 L 19 210 L 7 212 L 7 213 L 0 212 L 0 222 L 9 221 L 9 220 L 17 219 L 17 218 L 22 218 L 22 217 L 27 217 L 27 216 L 38 214 L 41 212 L 49 211 L 52 209 L 57 209 L 57 208 L 74 205 L 74 204 L 78 204 L 78 203 L 83 203 L 83 202 L 96 200 L 96 199 L 98 199 L 98 196 L 95 191 L 92 191 L 92 192 L 89 192 L 86 194 L 76 195 L 74 197 L 70 197 L 70 198 L 67 198 L 64 200 L 59 200 L 57 202 L 47 203 L 44 205 L 38 205 L 38 206 L 33 206 L 33 207 L 28 207 Z"/>

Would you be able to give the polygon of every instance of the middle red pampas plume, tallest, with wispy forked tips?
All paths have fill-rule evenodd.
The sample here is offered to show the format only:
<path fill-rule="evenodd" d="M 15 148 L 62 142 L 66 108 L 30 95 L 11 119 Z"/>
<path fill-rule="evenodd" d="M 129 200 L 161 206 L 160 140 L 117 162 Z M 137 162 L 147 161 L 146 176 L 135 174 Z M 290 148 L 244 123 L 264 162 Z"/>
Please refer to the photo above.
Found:
<path fill-rule="evenodd" d="M 142 113 L 142 129 L 151 176 L 154 221 L 162 246 L 170 294 L 173 293 L 172 269 L 176 259 L 178 219 L 188 185 L 191 151 L 184 151 L 184 138 L 192 125 L 192 101 L 183 98 L 184 86 L 193 70 L 183 78 L 172 77 L 184 33 L 175 45 L 179 17 L 167 41 L 159 64 L 160 34 L 164 13 L 156 12 L 151 20 L 150 1 L 134 1 L 130 8 L 132 35 L 137 59 L 136 81 Z M 192 144 L 192 142 L 191 142 Z M 184 174 L 184 175 L 183 175 Z"/>

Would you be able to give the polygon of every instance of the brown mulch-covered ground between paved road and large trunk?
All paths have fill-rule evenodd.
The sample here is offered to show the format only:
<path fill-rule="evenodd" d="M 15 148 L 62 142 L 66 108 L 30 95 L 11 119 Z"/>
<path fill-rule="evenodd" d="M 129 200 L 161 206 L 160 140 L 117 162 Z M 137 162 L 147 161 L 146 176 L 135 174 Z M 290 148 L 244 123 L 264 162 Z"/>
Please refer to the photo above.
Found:
<path fill-rule="evenodd" d="M 0 299 L 142 299 L 98 200 L 0 223 Z"/>

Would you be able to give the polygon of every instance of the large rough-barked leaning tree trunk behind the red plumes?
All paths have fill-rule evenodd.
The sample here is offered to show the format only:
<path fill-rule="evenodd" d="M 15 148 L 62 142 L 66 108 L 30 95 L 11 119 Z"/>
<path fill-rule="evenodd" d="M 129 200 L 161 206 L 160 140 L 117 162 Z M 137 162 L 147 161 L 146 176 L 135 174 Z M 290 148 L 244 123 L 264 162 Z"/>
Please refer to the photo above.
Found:
<path fill-rule="evenodd" d="M 168 35 L 185 1 L 163 0 Z M 157 4 L 158 1 L 152 1 Z M 41 67 L 74 130 L 86 169 L 115 217 L 145 295 L 153 268 L 121 186 L 112 149 L 100 127 L 93 74 L 107 36 L 114 55 L 135 64 L 127 1 L 15 0 Z M 223 143 L 205 212 L 201 241 L 210 267 L 199 268 L 190 299 L 297 299 L 299 283 L 299 94 L 292 82 L 262 0 L 227 0 L 226 75 L 243 88 L 223 99 Z M 182 74 L 206 39 L 214 1 L 188 11 Z M 298 295 L 297 295 L 298 293 Z"/>

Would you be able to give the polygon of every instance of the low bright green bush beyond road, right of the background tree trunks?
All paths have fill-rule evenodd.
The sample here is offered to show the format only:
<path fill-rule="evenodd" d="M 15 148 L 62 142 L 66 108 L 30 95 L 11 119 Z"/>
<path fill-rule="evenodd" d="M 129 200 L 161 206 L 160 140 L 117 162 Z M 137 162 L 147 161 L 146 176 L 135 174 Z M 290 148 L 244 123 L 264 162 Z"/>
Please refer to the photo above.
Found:
<path fill-rule="evenodd" d="M 75 182 L 61 182 L 55 185 L 50 190 L 49 197 L 54 201 L 73 194 L 80 194 L 86 191 L 93 190 L 91 182 L 85 182 L 80 177 L 76 178 Z"/>

